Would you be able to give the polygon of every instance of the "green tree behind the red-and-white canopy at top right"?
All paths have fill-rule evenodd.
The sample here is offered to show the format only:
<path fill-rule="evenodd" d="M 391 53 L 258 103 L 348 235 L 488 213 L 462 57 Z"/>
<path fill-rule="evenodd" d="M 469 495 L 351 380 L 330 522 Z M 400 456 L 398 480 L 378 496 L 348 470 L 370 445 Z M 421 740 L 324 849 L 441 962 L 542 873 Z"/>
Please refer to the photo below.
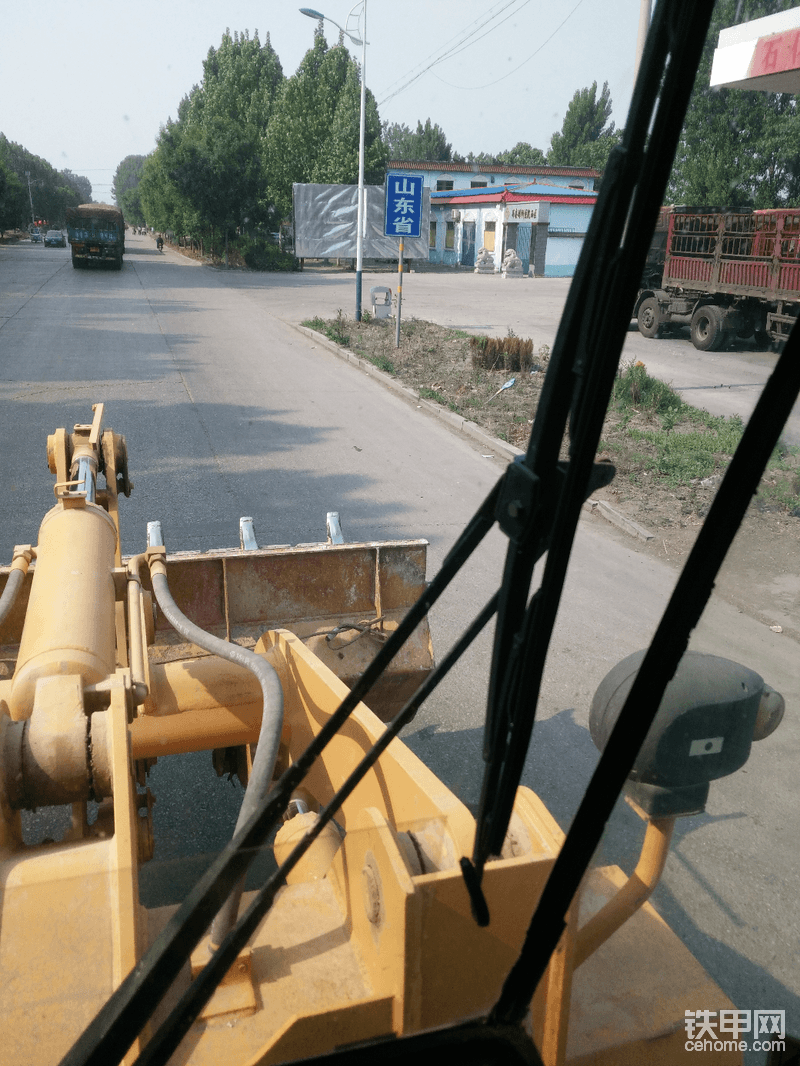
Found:
<path fill-rule="evenodd" d="M 675 152 L 669 199 L 719 207 L 800 204 L 794 96 L 709 85 L 720 30 L 794 6 L 794 0 L 718 0 Z"/>

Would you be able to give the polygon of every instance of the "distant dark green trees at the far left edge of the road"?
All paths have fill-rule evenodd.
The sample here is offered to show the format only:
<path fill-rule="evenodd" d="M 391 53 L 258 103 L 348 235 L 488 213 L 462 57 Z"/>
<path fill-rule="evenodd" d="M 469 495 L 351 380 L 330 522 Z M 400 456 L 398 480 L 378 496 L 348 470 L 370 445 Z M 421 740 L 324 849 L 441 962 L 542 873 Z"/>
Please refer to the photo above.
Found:
<path fill-rule="evenodd" d="M 26 228 L 38 219 L 63 226 L 68 207 L 91 199 L 89 178 L 57 171 L 0 133 L 0 232 Z"/>

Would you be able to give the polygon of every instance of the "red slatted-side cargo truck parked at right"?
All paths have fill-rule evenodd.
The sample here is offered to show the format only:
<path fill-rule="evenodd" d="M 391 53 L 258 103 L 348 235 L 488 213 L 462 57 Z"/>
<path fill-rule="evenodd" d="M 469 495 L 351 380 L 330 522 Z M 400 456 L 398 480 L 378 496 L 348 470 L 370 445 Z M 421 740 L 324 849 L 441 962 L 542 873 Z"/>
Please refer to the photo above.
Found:
<path fill-rule="evenodd" d="M 800 311 L 800 209 L 662 208 L 634 308 L 639 332 L 688 325 L 701 352 L 784 340 Z"/>

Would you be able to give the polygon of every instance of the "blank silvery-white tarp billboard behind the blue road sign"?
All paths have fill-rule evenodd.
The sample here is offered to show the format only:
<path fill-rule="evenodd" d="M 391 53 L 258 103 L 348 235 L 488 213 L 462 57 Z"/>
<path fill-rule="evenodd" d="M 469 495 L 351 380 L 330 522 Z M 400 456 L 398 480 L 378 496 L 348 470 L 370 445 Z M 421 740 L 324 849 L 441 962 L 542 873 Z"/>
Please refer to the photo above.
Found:
<path fill-rule="evenodd" d="M 365 185 L 367 201 L 364 236 L 365 259 L 397 259 L 400 241 L 384 237 L 383 185 Z M 292 185 L 294 255 L 299 259 L 355 259 L 357 185 Z M 422 190 L 421 237 L 403 241 L 404 259 L 428 258 L 431 193 Z"/>

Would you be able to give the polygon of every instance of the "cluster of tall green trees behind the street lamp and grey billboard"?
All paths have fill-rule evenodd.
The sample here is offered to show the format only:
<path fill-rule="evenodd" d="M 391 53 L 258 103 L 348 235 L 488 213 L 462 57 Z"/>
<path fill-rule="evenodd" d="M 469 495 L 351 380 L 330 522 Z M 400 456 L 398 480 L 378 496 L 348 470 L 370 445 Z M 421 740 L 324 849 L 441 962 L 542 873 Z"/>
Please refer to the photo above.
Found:
<path fill-rule="evenodd" d="M 291 213 L 293 182 L 357 181 L 359 77 L 341 35 L 329 47 L 321 23 L 290 78 L 269 34 L 262 44 L 257 31 L 226 31 L 155 151 L 117 167 L 123 213 L 134 225 L 220 242 L 278 230 Z M 386 152 L 369 91 L 366 100 L 365 180 L 374 183 L 383 181 Z"/>

